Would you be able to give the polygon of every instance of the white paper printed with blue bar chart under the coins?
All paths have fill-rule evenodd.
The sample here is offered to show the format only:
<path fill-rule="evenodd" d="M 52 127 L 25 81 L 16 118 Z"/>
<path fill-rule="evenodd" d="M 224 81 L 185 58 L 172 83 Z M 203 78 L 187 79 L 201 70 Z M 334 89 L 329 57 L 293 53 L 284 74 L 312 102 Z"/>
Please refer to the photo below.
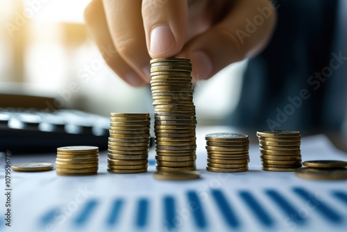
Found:
<path fill-rule="evenodd" d="M 319 142 L 303 146 L 305 159 L 346 157 Z M 201 179 L 182 182 L 153 179 L 153 161 L 141 175 L 16 173 L 12 228 L 0 231 L 346 231 L 346 181 L 264 172 L 257 162 L 248 172 L 211 173 L 202 154 Z"/>

